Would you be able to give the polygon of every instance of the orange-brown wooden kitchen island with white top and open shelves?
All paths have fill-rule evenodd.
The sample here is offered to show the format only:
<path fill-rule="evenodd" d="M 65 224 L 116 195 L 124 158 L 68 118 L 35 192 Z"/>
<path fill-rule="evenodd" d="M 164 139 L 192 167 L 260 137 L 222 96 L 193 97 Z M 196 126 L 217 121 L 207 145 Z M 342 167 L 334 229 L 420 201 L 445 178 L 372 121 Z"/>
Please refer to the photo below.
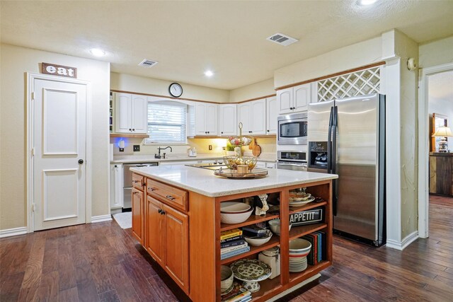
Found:
<path fill-rule="evenodd" d="M 260 281 L 260 291 L 253 301 L 268 301 L 304 281 L 319 276 L 332 264 L 332 180 L 337 175 L 292 170 L 269 170 L 264 178 L 237 180 L 214 176 L 212 170 L 167 165 L 132 168 L 132 234 L 165 269 L 192 301 L 220 301 L 220 266 L 280 246 L 279 277 Z M 306 187 L 321 202 L 289 207 L 289 190 Z M 220 203 L 243 201 L 258 194 L 268 194 L 279 210 L 261 216 L 252 214 L 242 223 L 220 221 Z M 324 209 L 323 221 L 289 229 L 289 215 L 295 212 Z M 249 252 L 221 260 L 220 232 L 254 223 L 281 220 L 280 236 L 268 243 L 251 246 Z M 326 233 L 325 257 L 303 272 L 289 272 L 289 240 L 315 231 Z"/>

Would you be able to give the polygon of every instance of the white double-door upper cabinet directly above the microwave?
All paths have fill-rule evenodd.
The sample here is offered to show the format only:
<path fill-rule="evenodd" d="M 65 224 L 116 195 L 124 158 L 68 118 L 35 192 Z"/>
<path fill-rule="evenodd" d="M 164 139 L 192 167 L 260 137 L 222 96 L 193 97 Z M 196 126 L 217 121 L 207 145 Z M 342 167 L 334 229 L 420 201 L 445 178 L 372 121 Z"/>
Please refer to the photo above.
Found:
<path fill-rule="evenodd" d="M 280 115 L 308 110 L 311 99 L 311 83 L 289 87 L 277 91 Z"/>

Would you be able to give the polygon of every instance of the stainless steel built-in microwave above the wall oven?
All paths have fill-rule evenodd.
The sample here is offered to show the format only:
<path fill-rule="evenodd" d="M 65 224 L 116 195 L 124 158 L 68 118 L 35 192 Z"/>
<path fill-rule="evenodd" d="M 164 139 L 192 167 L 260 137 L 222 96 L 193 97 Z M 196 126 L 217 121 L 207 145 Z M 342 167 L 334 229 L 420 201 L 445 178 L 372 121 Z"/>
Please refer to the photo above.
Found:
<path fill-rule="evenodd" d="M 294 113 L 280 115 L 278 121 L 277 144 L 279 145 L 306 145 L 307 114 Z"/>

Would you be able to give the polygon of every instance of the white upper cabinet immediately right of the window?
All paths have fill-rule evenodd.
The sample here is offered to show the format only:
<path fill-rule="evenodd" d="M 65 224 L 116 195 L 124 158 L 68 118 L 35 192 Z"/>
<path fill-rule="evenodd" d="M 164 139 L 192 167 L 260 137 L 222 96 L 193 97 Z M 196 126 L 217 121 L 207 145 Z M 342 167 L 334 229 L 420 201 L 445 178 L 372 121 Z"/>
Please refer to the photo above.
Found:
<path fill-rule="evenodd" d="M 195 135 L 217 136 L 217 104 L 195 104 Z"/>

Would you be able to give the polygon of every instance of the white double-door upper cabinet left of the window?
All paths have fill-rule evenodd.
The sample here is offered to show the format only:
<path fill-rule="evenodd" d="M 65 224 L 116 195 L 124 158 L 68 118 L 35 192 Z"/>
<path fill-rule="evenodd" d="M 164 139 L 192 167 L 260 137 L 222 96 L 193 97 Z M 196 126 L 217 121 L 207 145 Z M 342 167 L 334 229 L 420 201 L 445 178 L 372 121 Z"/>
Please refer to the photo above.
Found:
<path fill-rule="evenodd" d="M 147 133 L 147 98 L 144 95 L 115 93 L 115 132 Z"/>

